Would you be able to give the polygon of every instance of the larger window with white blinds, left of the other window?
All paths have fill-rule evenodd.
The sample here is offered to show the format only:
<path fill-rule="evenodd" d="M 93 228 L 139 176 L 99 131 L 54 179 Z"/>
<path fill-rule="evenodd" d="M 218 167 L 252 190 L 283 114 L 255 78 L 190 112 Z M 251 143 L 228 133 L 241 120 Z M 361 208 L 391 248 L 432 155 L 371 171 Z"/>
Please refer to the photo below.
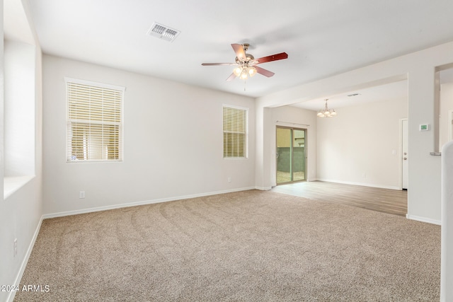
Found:
<path fill-rule="evenodd" d="M 67 161 L 122 161 L 125 88 L 66 79 Z"/>

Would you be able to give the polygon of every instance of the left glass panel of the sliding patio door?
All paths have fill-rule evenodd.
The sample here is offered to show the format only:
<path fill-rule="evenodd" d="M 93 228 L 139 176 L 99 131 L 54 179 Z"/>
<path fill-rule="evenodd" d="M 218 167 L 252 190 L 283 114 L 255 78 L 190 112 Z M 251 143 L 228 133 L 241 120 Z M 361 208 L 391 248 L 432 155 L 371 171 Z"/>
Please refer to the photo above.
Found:
<path fill-rule="evenodd" d="M 292 130 L 277 128 L 277 183 L 292 181 Z"/>

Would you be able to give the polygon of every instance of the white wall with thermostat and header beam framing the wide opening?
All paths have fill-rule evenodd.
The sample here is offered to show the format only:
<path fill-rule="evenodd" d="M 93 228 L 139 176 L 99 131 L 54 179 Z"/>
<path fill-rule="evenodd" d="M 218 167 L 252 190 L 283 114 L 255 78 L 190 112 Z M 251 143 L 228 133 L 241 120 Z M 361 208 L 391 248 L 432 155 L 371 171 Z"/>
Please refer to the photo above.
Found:
<path fill-rule="evenodd" d="M 266 173 L 273 150 L 269 108 L 408 79 L 408 218 L 440 223 L 440 156 L 430 156 L 438 149 L 437 129 L 420 132 L 418 127 L 435 126 L 435 68 L 452 62 L 449 42 L 258 98 L 256 139 L 262 148 L 256 149 L 257 186 L 270 187 L 273 182 Z"/>

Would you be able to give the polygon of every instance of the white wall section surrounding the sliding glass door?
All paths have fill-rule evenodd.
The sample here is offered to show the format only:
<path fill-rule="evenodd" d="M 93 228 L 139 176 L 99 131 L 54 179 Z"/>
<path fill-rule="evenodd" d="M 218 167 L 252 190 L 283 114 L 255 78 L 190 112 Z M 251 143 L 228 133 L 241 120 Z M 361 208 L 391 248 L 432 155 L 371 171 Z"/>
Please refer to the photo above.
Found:
<path fill-rule="evenodd" d="M 270 157 L 271 167 L 271 185 L 276 183 L 276 127 L 294 127 L 306 129 L 306 178 L 307 180 L 316 180 L 316 161 L 317 161 L 317 143 L 316 143 L 316 112 L 312 110 L 304 110 L 292 106 L 282 106 L 271 108 L 271 123 L 273 124 L 273 132 L 270 133 L 271 142 L 273 142 L 273 152 Z"/>

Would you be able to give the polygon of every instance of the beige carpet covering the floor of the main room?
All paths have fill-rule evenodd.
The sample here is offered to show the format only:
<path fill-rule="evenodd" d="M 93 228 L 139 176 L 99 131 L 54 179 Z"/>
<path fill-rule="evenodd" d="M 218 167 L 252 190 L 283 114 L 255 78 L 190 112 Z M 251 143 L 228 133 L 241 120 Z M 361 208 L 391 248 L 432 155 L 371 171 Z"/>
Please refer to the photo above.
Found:
<path fill-rule="evenodd" d="M 439 301 L 440 226 L 251 190 L 47 219 L 15 301 Z"/>

